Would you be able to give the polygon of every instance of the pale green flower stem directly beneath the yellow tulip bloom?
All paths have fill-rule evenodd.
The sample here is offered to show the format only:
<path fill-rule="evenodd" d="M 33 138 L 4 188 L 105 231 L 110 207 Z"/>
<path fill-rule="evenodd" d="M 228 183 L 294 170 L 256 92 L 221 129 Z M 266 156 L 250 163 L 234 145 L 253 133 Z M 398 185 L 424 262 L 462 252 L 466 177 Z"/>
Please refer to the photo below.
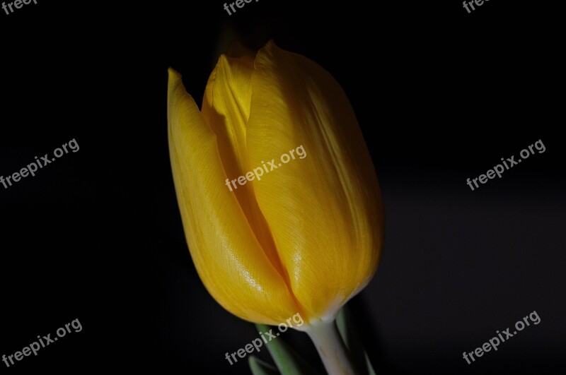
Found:
<path fill-rule="evenodd" d="M 319 321 L 306 329 L 328 375 L 357 375 L 335 321 Z"/>

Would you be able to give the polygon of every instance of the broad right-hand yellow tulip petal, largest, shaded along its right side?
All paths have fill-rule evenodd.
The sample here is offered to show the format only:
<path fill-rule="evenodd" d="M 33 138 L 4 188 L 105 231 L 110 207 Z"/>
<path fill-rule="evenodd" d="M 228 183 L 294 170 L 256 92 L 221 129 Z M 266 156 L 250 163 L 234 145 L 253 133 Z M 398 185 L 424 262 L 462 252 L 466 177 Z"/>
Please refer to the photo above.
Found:
<path fill-rule="evenodd" d="M 313 61 L 269 42 L 255 59 L 252 86 L 248 162 L 274 160 L 276 168 L 254 181 L 256 199 L 294 296 L 311 317 L 333 319 L 369 282 L 381 254 L 371 157 L 342 88 Z M 295 157 L 285 163 L 290 150 Z"/>

